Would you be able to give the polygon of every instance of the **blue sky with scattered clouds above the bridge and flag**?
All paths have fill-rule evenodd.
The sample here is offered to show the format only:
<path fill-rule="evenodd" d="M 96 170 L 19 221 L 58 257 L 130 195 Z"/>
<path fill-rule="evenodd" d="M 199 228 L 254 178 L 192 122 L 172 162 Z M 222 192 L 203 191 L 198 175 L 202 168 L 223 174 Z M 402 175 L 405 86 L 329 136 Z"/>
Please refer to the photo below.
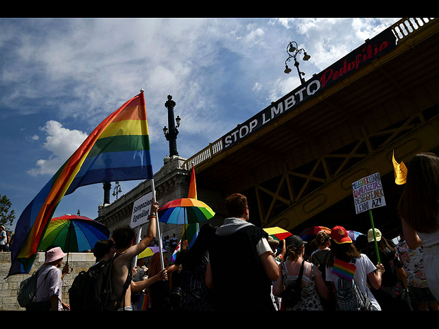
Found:
<path fill-rule="evenodd" d="M 141 88 L 155 173 L 169 154 L 167 95 L 182 119 L 178 152 L 189 158 L 299 86 L 296 71 L 283 73 L 290 41 L 311 56 L 300 57 L 308 80 L 396 21 L 0 19 L 0 195 L 18 219 L 86 136 Z M 139 182 L 121 182 L 122 194 Z M 95 219 L 103 195 L 102 184 L 78 188 L 54 217 L 80 209 Z"/>

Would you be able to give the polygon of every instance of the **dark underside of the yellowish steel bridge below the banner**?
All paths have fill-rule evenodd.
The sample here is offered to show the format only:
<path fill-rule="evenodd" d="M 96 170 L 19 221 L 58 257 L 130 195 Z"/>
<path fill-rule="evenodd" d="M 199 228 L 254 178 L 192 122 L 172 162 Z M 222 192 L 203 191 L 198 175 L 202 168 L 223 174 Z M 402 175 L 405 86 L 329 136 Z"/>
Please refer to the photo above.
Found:
<path fill-rule="evenodd" d="M 198 188 L 248 196 L 250 220 L 300 232 L 344 225 L 365 232 L 368 212 L 355 215 L 352 182 L 379 172 L 386 206 L 375 226 L 396 236 L 392 152 L 409 162 L 439 151 L 438 22 L 411 34 L 388 54 L 285 114 L 257 134 L 195 168 Z"/>

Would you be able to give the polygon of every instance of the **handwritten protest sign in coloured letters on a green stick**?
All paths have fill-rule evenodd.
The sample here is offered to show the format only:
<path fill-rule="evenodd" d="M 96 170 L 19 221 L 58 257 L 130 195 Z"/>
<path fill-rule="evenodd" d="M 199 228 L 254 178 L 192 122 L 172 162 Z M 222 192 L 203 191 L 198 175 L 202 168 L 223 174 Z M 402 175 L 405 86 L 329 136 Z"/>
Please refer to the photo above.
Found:
<path fill-rule="evenodd" d="M 379 173 L 368 175 L 352 183 L 355 212 L 359 214 L 369 209 L 385 206 L 383 186 Z"/>

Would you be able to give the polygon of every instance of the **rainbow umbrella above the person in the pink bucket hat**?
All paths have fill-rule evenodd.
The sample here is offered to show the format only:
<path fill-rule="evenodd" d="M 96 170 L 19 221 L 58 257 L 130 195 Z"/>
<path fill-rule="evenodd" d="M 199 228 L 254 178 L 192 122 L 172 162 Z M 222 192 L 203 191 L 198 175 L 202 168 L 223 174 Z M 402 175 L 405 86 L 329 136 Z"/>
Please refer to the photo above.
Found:
<path fill-rule="evenodd" d="M 84 252 L 93 249 L 97 241 L 108 239 L 109 235 L 110 231 L 102 223 L 85 216 L 64 215 L 51 219 L 38 248 L 45 250 L 56 245 L 67 254 Z"/>

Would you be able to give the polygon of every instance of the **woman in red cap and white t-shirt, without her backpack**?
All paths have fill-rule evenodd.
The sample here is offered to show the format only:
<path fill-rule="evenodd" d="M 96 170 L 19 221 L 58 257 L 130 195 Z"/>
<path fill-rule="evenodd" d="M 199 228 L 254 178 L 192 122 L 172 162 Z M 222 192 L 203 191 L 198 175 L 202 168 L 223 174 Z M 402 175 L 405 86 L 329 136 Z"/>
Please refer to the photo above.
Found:
<path fill-rule="evenodd" d="M 370 292 L 367 282 L 375 289 L 381 286 L 381 273 L 384 267 L 381 264 L 372 264 L 368 256 L 360 254 L 351 238 L 342 226 L 335 226 L 331 230 L 331 252 L 326 269 L 326 280 L 331 282 L 331 287 L 337 300 L 337 289 L 339 289 L 340 278 L 351 280 L 357 284 L 364 297 L 370 302 L 370 310 L 381 310 L 374 295 Z"/>

